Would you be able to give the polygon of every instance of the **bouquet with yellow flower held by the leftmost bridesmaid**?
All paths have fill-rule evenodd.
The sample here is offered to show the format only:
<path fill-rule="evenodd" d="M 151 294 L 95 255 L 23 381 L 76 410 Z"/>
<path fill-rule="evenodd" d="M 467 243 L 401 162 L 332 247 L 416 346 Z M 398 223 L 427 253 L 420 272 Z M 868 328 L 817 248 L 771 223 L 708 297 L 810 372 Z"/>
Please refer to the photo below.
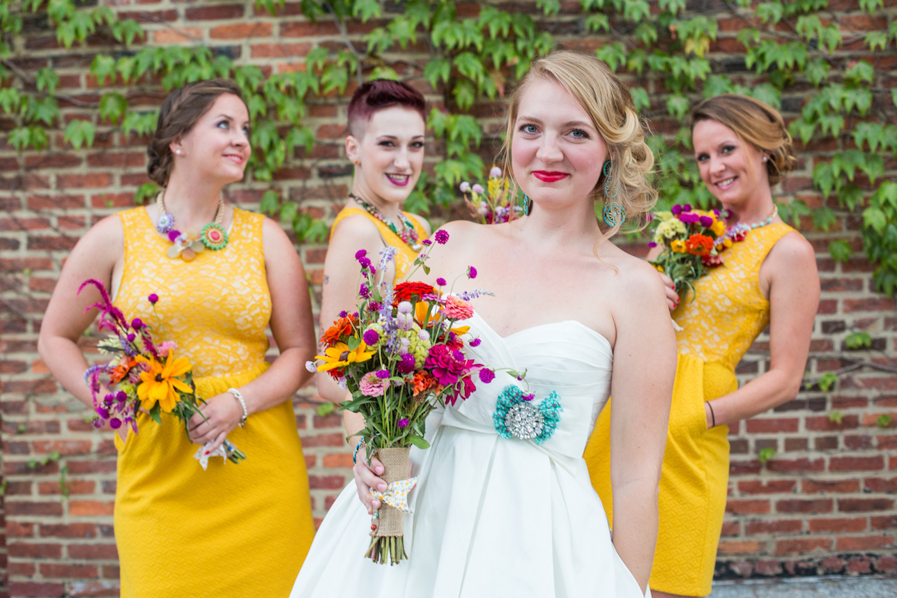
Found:
<path fill-rule="evenodd" d="M 98 348 L 101 353 L 114 356 L 109 362 L 91 366 L 84 373 L 84 382 L 91 388 L 93 397 L 94 427 L 100 428 L 103 422 L 108 421 L 112 429 L 125 425 L 137 433 L 137 410 L 143 409 L 160 425 L 161 413 L 177 416 L 189 435 L 187 422 L 196 413 L 202 415 L 199 406 L 205 403 L 196 396 L 190 360 L 186 357 L 175 358 L 175 351 L 178 351 L 175 342 L 156 342 L 152 338 L 151 326 L 139 317 L 128 322 L 121 310 L 112 305 L 109 292 L 102 282 L 93 279 L 85 281 L 78 288 L 78 293 L 87 285 L 100 290 L 100 301 L 84 311 L 98 308 L 100 323 L 97 327 L 100 331 L 109 330 L 111 333 L 109 338 L 100 341 Z M 159 296 L 152 293 L 147 300 L 155 313 Z M 100 400 L 100 385 L 103 383 L 109 393 Z M 222 456 L 225 463 L 228 460 L 239 463 L 246 458 L 227 439 L 214 451 L 210 450 L 211 446 L 212 443 L 205 443 L 194 455 L 204 470 L 213 456 Z"/>

